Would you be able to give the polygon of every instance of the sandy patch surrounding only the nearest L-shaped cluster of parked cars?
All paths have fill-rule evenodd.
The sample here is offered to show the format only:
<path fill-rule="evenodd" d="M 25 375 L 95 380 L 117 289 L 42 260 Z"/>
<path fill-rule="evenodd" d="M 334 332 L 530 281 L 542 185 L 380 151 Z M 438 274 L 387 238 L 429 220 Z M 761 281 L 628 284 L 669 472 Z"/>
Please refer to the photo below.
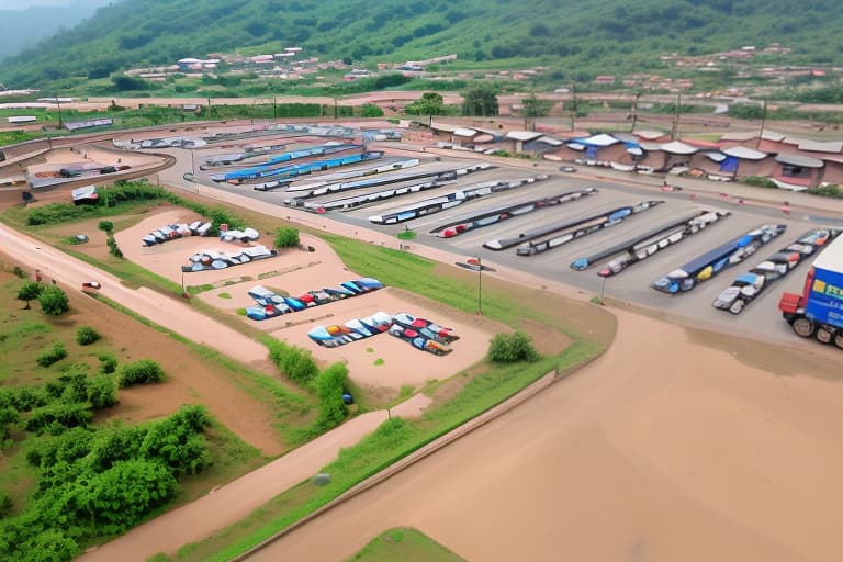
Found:
<path fill-rule="evenodd" d="M 379 311 L 389 314 L 406 312 L 431 319 L 453 328 L 460 339 L 451 345 L 453 351 L 440 357 L 419 351 L 389 334 L 379 334 L 338 348 L 322 347 L 307 337 L 307 331 L 314 326 L 344 324 Z M 390 288 L 282 316 L 284 317 L 297 324 L 272 331 L 272 336 L 304 346 L 319 360 L 330 363 L 346 361 L 349 375 L 355 382 L 372 386 L 400 387 L 403 384 L 423 384 L 431 379 L 447 379 L 480 361 L 485 356 L 494 334 L 470 323 L 443 316 L 441 312 L 408 303 Z M 375 361 L 381 363 L 379 360 L 382 360 L 382 364 L 375 364 Z"/>

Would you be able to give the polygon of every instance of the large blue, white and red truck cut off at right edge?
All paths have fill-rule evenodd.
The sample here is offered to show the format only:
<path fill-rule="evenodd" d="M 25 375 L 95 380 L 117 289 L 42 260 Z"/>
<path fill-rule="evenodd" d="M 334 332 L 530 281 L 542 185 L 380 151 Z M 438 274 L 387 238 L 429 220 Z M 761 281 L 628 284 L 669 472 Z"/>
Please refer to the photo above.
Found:
<path fill-rule="evenodd" d="M 802 294 L 783 294 L 778 310 L 797 335 L 843 349 L 843 236 L 813 260 Z"/>

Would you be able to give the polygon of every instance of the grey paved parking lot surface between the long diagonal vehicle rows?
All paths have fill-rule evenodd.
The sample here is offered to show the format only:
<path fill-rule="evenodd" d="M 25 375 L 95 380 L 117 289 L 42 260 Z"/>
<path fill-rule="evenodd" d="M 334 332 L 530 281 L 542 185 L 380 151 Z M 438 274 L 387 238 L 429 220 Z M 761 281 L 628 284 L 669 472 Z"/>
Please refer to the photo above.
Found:
<path fill-rule="evenodd" d="M 447 157 L 434 158 L 428 155 L 419 155 L 419 166 L 402 170 L 402 172 L 441 172 L 449 169 L 460 169 L 473 164 L 482 164 L 482 159 L 449 159 Z M 395 157 L 386 157 L 396 159 Z M 364 162 L 364 165 L 341 168 L 341 170 L 366 168 L 384 160 Z M 385 160 L 389 161 L 389 160 Z M 625 184 L 622 181 L 605 182 L 595 181 L 584 175 L 553 172 L 542 181 L 525 184 L 515 189 L 488 194 L 486 196 L 467 200 L 450 209 L 430 213 L 425 216 L 401 222 L 393 225 L 376 225 L 370 222 L 373 215 L 384 215 L 408 207 L 431 198 L 440 198 L 448 193 L 472 188 L 477 183 L 497 180 L 517 180 L 540 176 L 542 172 L 530 168 L 516 168 L 496 166 L 495 168 L 460 176 L 457 181 L 449 182 L 436 189 L 411 193 L 394 199 L 370 203 L 345 212 L 334 212 L 334 220 L 366 228 L 378 229 L 383 233 L 396 235 L 405 228 L 417 233 L 413 244 L 429 245 L 450 250 L 454 254 L 469 257 L 479 257 L 484 265 L 494 267 L 501 265 L 516 268 L 542 278 L 560 281 L 595 295 L 604 294 L 608 297 L 619 299 L 632 304 L 643 305 L 661 310 L 671 314 L 694 318 L 697 325 L 708 326 L 719 330 L 733 331 L 735 334 L 755 334 L 763 338 L 787 338 L 793 340 L 790 328 L 782 319 L 777 304 L 779 296 L 785 291 L 800 292 L 805 274 L 808 270 L 807 262 L 800 263 L 787 277 L 766 289 L 754 302 L 734 316 L 728 312 L 718 311 L 711 306 L 711 302 L 731 282 L 756 263 L 764 260 L 782 247 L 795 241 L 806 232 L 824 223 L 812 221 L 807 215 L 786 215 L 780 210 L 738 204 L 734 200 L 718 200 L 715 198 L 692 198 L 687 192 L 664 192 L 657 187 L 648 188 L 632 182 Z M 313 182 L 319 179 L 318 175 L 308 176 L 295 183 Z M 374 191 L 394 189 L 427 181 L 426 179 L 409 180 L 395 184 L 363 188 L 324 195 L 313 201 L 327 202 L 335 199 L 360 195 Z M 203 181 L 205 182 L 205 181 Z M 207 182 L 210 183 L 210 182 Z M 220 189 L 229 189 L 218 187 Z M 585 188 L 596 188 L 597 193 L 582 198 L 577 201 L 563 203 L 547 209 L 539 209 L 529 214 L 514 216 L 501 223 L 482 228 L 472 229 L 469 233 L 452 237 L 439 238 L 430 231 L 454 220 L 483 211 L 521 203 L 535 199 L 548 198 Z M 261 199 L 276 204 L 283 204 L 292 193 L 284 190 L 262 193 L 250 190 L 247 186 L 236 188 L 238 192 Z M 783 193 L 786 196 L 786 193 Z M 483 248 L 483 243 L 495 238 L 508 238 L 518 236 L 528 231 L 535 231 L 559 223 L 585 218 L 594 214 L 615 210 L 623 205 L 633 205 L 642 201 L 663 201 L 650 210 L 628 216 L 623 222 L 606 229 L 572 240 L 561 247 L 550 249 L 535 256 L 517 256 L 515 248 L 502 251 L 493 251 Z M 656 255 L 632 265 L 618 276 L 605 279 L 597 276 L 600 266 L 607 262 L 607 258 L 595 267 L 584 271 L 575 271 L 570 265 L 577 258 L 587 256 L 600 249 L 629 240 L 636 236 L 651 231 L 660 225 L 667 224 L 697 210 L 722 210 L 731 215 L 702 232 L 683 239 L 679 244 L 671 246 Z M 757 252 L 745 261 L 726 269 L 719 276 L 699 283 L 693 291 L 678 295 L 667 295 L 653 290 L 650 284 L 659 277 L 668 273 L 696 258 L 700 254 L 727 243 L 762 224 L 785 224 L 787 231 L 780 237 L 763 246 Z M 841 226 L 841 223 L 825 224 Z M 537 288 L 540 289 L 540 288 Z"/>

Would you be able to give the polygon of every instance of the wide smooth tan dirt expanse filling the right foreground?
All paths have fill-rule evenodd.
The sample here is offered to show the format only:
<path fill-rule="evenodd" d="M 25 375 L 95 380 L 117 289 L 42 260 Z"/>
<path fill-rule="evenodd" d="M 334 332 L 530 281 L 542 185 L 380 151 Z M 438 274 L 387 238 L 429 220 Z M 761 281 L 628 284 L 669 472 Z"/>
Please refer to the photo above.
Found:
<path fill-rule="evenodd" d="M 252 559 L 334 562 L 412 526 L 468 560 L 839 560 L 843 385 L 618 315 L 595 363 Z"/>

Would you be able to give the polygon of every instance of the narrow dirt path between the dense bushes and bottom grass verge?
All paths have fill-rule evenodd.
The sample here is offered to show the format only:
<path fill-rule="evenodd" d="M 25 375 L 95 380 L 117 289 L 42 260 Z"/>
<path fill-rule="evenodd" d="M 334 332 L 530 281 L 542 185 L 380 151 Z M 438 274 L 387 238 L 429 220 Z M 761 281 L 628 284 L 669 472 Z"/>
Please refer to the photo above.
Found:
<path fill-rule="evenodd" d="M 428 403 L 429 398 L 417 394 L 392 408 L 392 414 L 413 417 Z M 187 542 L 201 540 L 214 531 L 239 521 L 262 503 L 313 476 L 322 467 L 336 458 L 340 448 L 355 445 L 386 418 L 385 411 L 370 412 L 356 417 L 339 429 L 323 435 L 195 502 L 167 512 L 77 560 L 80 562 L 143 561 L 156 552 L 173 553 Z"/>

